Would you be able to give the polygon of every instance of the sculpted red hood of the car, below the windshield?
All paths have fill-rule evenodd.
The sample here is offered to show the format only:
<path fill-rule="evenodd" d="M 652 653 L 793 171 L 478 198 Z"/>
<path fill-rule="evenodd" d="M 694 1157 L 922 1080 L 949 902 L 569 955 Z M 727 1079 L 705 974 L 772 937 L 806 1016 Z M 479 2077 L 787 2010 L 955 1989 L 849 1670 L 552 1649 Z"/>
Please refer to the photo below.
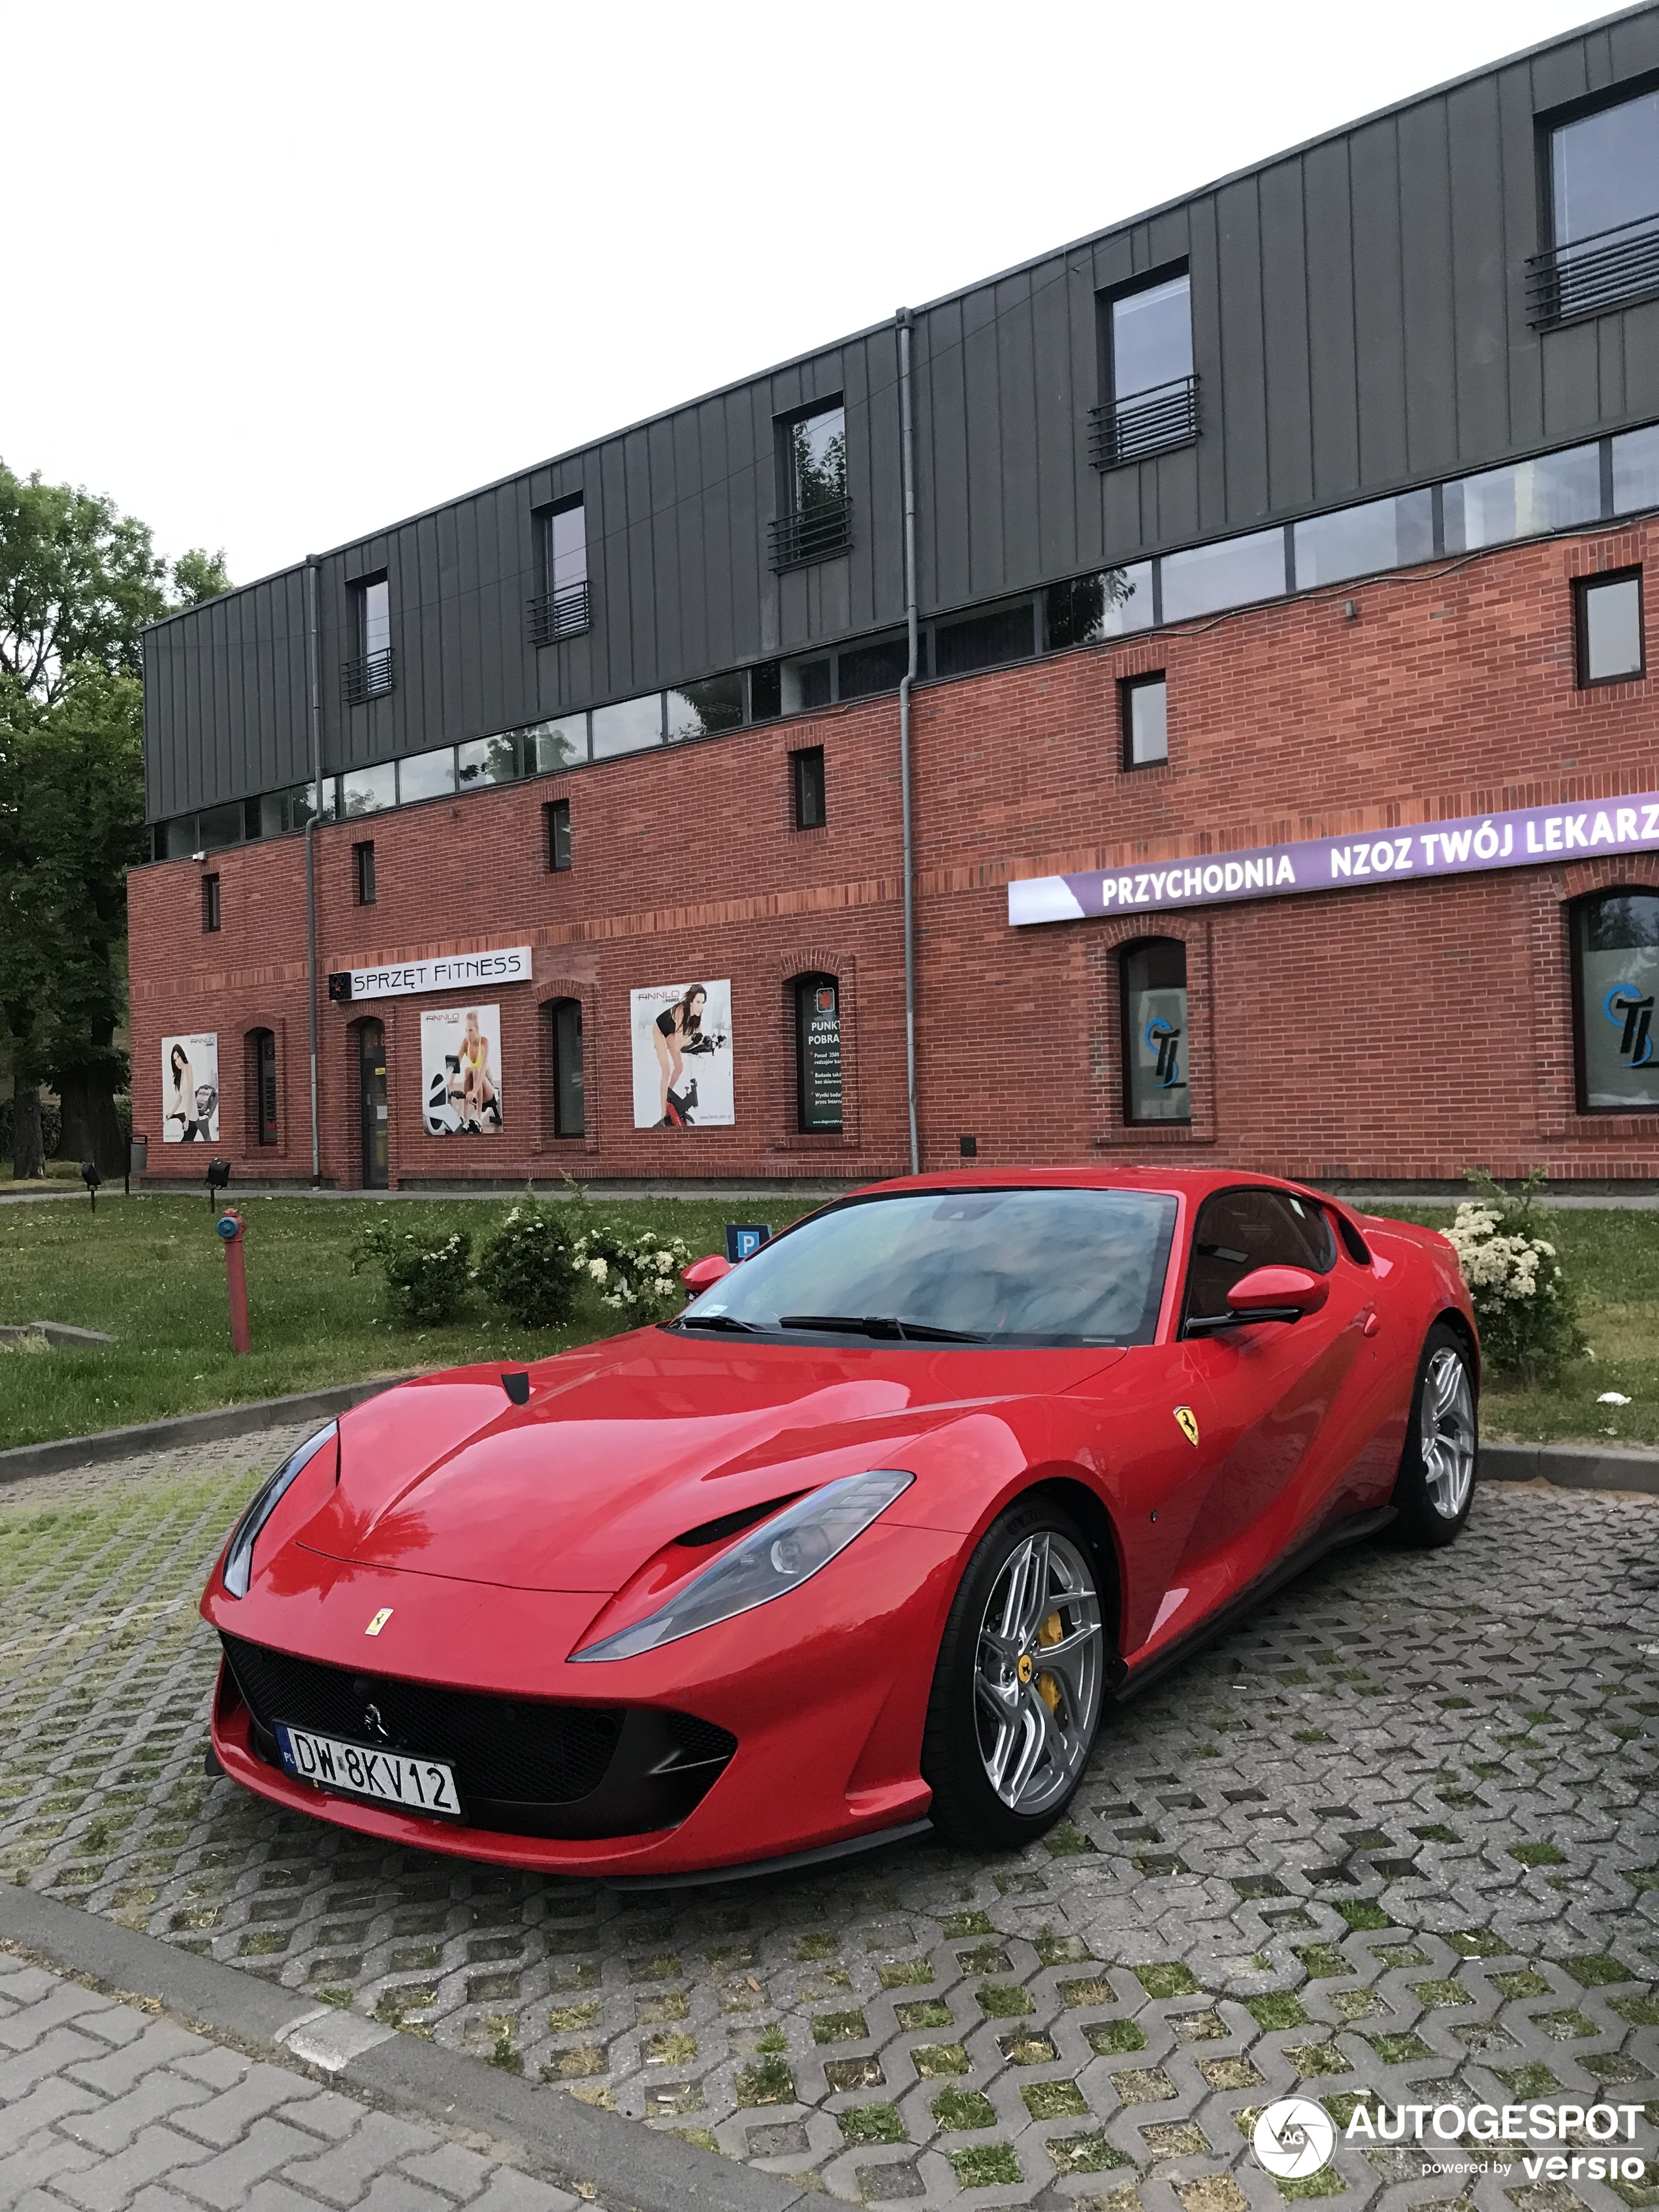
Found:
<path fill-rule="evenodd" d="M 637 1329 L 538 1360 L 522 1407 L 500 1367 L 462 1367 L 341 1416 L 338 1484 L 296 1542 L 361 1566 L 611 1595 L 692 1528 L 867 1467 L 911 1467 L 927 1433 L 1073 1389 L 1121 1356 Z"/>

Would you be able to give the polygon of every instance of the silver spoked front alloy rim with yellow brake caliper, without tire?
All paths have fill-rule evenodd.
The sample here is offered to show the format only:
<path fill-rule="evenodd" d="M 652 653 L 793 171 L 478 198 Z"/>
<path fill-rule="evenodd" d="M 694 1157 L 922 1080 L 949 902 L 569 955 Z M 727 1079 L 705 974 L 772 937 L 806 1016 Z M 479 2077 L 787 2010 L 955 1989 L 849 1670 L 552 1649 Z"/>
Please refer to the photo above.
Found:
<path fill-rule="evenodd" d="M 1057 1531 L 1002 1564 L 980 1621 L 973 1721 L 984 1772 L 1013 1812 L 1042 1814 L 1082 1774 L 1102 1690 L 1095 1575 Z"/>

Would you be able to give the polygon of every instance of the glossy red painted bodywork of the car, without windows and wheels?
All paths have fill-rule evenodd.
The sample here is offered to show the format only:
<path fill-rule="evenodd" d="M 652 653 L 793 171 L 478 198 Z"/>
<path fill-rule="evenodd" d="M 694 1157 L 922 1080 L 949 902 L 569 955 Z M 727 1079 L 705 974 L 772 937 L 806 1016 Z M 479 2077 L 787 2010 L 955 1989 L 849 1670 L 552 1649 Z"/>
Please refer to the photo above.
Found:
<path fill-rule="evenodd" d="M 389 1843 L 546 1871 L 668 1878 L 792 1858 L 927 1818 L 922 1725 L 945 1617 L 973 1546 L 1022 1491 L 1060 1486 L 1115 1562 L 1119 1697 L 1334 1535 L 1380 1522 L 1429 1327 L 1449 1321 L 1475 1345 L 1442 1237 L 1219 1170 L 880 1190 L 975 1183 L 1175 1194 L 1155 1340 L 825 1347 L 644 1327 L 531 1365 L 524 1405 L 493 1365 L 389 1389 L 345 1413 L 283 1495 L 246 1597 L 226 1590 L 223 1557 L 212 1573 L 201 1613 L 241 1655 L 212 1708 L 226 1774 Z M 1294 1327 L 1183 1338 L 1194 1210 L 1256 1183 L 1332 1217 L 1329 1296 Z M 708 1566 L 728 1517 L 872 1467 L 916 1480 L 803 1588 L 639 1657 L 571 1661 Z M 555 1721 L 573 1745 L 568 1787 L 599 1781 L 538 1814 L 540 1834 L 491 1825 L 507 1798 L 442 1823 L 296 1781 L 250 1694 L 270 1719 L 305 1663 L 345 1703 L 425 1699 L 436 1730 L 465 1732 L 487 1710 Z"/>

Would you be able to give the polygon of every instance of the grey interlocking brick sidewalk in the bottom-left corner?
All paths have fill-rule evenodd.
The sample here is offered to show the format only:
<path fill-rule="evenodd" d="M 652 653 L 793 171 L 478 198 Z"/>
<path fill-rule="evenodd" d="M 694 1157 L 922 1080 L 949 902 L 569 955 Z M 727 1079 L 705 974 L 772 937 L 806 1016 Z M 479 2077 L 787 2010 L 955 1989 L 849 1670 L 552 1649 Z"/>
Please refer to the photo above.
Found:
<path fill-rule="evenodd" d="M 0 1955 L 18 2212 L 580 2212 L 568 2190 Z"/>

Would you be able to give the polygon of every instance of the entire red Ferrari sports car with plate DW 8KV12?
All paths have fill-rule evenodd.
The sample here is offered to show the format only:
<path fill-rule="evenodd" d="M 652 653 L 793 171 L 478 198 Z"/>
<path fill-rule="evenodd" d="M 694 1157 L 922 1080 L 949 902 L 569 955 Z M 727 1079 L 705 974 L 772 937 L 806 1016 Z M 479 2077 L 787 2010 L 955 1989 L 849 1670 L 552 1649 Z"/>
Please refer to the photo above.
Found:
<path fill-rule="evenodd" d="M 226 1774 L 608 1878 L 1018 1847 L 1115 1701 L 1329 1546 L 1469 1515 L 1451 1248 L 1294 1183 L 916 1177 L 686 1274 L 270 1478 L 201 1599 Z"/>

